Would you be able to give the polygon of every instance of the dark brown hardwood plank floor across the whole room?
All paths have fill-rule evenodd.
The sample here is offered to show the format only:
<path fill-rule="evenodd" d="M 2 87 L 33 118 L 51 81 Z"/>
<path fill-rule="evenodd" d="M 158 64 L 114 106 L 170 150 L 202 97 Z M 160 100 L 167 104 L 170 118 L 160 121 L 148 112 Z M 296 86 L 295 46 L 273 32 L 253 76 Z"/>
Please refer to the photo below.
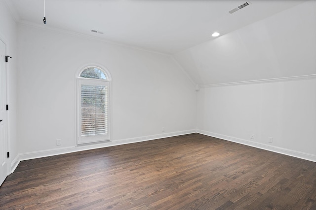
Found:
<path fill-rule="evenodd" d="M 1 210 L 316 210 L 316 163 L 189 134 L 20 162 Z"/>

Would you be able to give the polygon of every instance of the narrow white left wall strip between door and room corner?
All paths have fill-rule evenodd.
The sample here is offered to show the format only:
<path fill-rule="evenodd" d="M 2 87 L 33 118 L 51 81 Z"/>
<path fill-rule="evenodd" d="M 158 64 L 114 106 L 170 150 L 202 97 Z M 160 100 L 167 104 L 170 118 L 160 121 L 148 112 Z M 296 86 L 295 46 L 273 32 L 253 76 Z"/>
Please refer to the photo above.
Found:
<path fill-rule="evenodd" d="M 8 150 L 10 151 L 10 167 L 16 166 L 18 159 L 17 140 L 17 25 L 7 5 L 0 0 L 0 38 L 6 44 L 6 54 L 11 56 L 6 65 L 7 70 L 7 103 L 8 111 Z"/>

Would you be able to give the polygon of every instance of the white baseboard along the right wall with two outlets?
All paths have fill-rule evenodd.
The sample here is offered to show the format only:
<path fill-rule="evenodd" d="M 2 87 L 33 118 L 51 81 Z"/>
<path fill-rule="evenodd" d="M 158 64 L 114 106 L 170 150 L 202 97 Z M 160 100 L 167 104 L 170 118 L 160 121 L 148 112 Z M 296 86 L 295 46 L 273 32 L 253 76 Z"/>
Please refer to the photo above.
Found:
<path fill-rule="evenodd" d="M 236 137 L 232 137 L 232 136 L 226 136 L 223 134 L 213 133 L 213 132 L 209 132 L 209 131 L 205 131 L 205 130 L 197 129 L 197 133 L 200 133 L 200 134 L 203 134 L 206 136 L 211 136 L 211 137 L 223 139 L 223 140 L 227 140 L 230 142 L 235 142 L 235 143 L 247 145 L 250 147 L 259 148 L 262 150 L 269 150 L 269 151 L 277 152 L 280 154 L 285 154 L 285 155 L 289 155 L 292 157 L 297 157 L 297 158 L 316 162 L 316 155 L 315 154 L 309 154 L 309 153 L 305 153 L 305 152 L 301 152 L 301 151 L 289 150 L 289 149 L 271 146 L 271 145 L 267 145 L 267 144 L 262 144 L 262 143 L 258 143 L 258 142 L 252 142 L 252 141 L 248 141 L 248 140 L 244 140 L 244 139 L 240 139 L 240 138 L 236 138 Z"/>

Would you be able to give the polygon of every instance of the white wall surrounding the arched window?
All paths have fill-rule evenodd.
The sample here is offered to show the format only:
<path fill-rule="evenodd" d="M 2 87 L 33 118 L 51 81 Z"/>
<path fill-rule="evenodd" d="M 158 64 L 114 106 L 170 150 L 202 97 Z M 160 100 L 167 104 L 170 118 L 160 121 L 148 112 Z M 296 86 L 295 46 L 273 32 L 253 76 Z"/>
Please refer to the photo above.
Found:
<path fill-rule="evenodd" d="M 89 148 L 74 149 L 75 75 L 87 63 L 113 78 L 112 143 L 97 147 L 195 131 L 195 86 L 171 57 L 44 27 L 18 31 L 21 159 Z"/>

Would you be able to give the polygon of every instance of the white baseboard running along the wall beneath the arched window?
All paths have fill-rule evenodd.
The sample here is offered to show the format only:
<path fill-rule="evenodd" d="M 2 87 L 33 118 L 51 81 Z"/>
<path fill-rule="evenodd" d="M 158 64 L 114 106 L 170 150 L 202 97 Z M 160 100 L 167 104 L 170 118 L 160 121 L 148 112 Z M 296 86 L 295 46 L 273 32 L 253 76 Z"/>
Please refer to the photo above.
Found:
<path fill-rule="evenodd" d="M 180 135 L 185 135 L 185 134 L 190 134 L 190 133 L 196 133 L 196 130 L 193 129 L 193 130 L 156 134 L 156 135 L 150 135 L 150 136 L 142 136 L 142 137 L 136 137 L 136 138 L 121 139 L 121 140 L 109 141 L 109 142 L 93 144 L 93 145 L 79 145 L 77 147 L 73 146 L 73 147 L 65 147 L 65 148 L 59 148 L 59 149 L 25 152 L 25 153 L 20 153 L 17 155 L 17 157 L 12 162 L 12 164 L 16 166 L 13 167 L 11 164 L 11 168 L 13 172 L 15 168 L 17 167 L 18 163 L 22 160 L 30 160 L 30 159 L 40 158 L 40 157 L 48 157 L 48 156 L 53 156 L 53 155 L 58 155 L 58 154 L 66 154 L 66 153 L 71 153 L 71 152 L 76 152 L 76 151 L 99 149 L 99 148 L 112 147 L 112 146 L 124 145 L 124 144 L 136 143 L 136 142 L 144 142 L 144 141 L 167 138 L 167 137 L 172 137 L 172 136 L 180 136 Z"/>

